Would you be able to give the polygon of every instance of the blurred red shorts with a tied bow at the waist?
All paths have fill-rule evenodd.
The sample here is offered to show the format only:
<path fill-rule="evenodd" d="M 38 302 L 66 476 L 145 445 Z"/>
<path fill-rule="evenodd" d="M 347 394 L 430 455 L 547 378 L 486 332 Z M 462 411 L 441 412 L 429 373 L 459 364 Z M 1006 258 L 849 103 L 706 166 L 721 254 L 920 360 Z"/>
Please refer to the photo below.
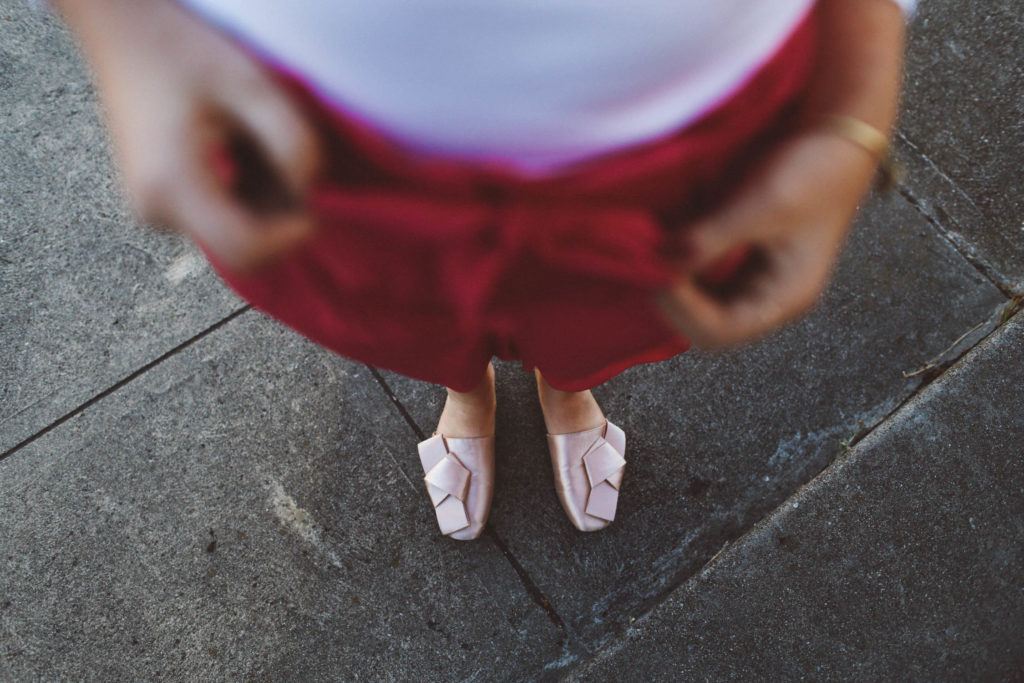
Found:
<path fill-rule="evenodd" d="M 318 229 L 245 275 L 207 256 L 256 308 L 349 358 L 467 391 L 497 355 L 591 388 L 688 348 L 653 302 L 667 250 L 792 123 L 815 49 L 812 12 L 697 122 L 543 178 L 413 155 L 272 67 L 324 134 Z"/>

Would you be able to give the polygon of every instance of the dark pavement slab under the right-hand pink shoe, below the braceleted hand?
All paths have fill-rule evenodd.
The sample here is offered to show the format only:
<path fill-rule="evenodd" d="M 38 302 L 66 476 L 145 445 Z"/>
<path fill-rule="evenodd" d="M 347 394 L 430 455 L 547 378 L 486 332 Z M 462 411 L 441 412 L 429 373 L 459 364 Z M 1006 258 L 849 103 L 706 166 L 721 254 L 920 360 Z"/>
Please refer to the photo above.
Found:
<path fill-rule="evenodd" d="M 744 350 L 633 368 L 595 391 L 626 431 L 630 463 L 607 529 L 566 519 L 532 376 L 500 364 L 492 524 L 575 653 L 593 652 L 895 410 L 923 377 L 904 371 L 994 326 L 985 322 L 1004 302 L 913 207 L 873 200 L 808 318 Z M 429 434 L 443 390 L 384 377 Z"/>

